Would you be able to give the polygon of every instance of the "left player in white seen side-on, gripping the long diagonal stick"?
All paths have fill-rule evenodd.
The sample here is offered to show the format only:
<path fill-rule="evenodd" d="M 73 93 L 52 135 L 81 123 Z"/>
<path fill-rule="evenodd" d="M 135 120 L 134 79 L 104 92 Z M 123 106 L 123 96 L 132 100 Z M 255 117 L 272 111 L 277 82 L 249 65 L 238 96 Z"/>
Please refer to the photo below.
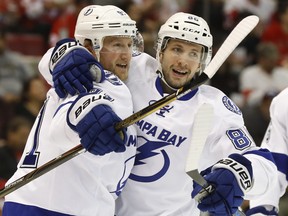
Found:
<path fill-rule="evenodd" d="M 113 72 L 125 75 L 132 57 L 135 22 L 114 6 L 93 6 L 80 14 L 89 18 L 94 12 L 99 15 L 95 24 L 103 28 L 95 35 L 98 32 L 97 36 L 107 36 L 100 47 L 104 54 L 100 53 L 99 57 L 120 64 L 114 65 Z M 79 25 L 80 22 L 81 19 Z M 111 29 L 109 25 L 115 26 Z M 67 53 L 75 55 L 70 58 Z M 7 195 L 3 216 L 114 215 L 115 199 L 125 185 L 136 152 L 135 128 L 120 132 L 114 129 L 116 122 L 133 113 L 131 94 L 116 75 L 103 71 L 95 57 L 75 41 L 59 44 L 54 49 L 50 68 L 65 69 L 70 61 L 81 62 L 83 70 L 93 65 L 93 71 L 100 75 L 98 83 L 94 82 L 88 93 L 66 99 L 59 99 L 54 88 L 49 90 L 18 170 L 7 184 L 80 142 L 88 151 Z M 82 81 L 87 78 L 73 75 Z"/>

